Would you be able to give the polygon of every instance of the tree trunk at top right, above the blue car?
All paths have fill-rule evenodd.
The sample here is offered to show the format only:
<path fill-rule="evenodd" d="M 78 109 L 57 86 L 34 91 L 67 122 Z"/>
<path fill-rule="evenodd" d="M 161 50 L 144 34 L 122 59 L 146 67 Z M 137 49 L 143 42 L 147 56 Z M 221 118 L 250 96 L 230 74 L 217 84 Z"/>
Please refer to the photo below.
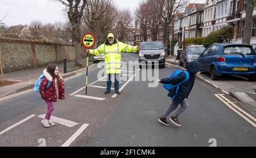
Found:
<path fill-rule="evenodd" d="M 245 12 L 246 12 L 246 19 L 245 19 L 245 31 L 243 33 L 243 44 L 250 44 L 251 40 L 251 18 L 253 16 L 253 10 L 255 5 L 255 0 L 245 0 Z"/>

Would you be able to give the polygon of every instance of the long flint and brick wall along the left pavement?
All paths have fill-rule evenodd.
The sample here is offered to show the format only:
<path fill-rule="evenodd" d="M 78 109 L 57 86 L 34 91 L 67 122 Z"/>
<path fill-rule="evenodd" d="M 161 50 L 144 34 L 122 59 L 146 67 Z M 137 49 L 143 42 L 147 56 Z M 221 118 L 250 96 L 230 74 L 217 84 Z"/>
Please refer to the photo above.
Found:
<path fill-rule="evenodd" d="M 0 52 L 4 72 L 61 63 L 63 58 L 75 61 L 75 46 L 72 44 L 0 38 Z"/>

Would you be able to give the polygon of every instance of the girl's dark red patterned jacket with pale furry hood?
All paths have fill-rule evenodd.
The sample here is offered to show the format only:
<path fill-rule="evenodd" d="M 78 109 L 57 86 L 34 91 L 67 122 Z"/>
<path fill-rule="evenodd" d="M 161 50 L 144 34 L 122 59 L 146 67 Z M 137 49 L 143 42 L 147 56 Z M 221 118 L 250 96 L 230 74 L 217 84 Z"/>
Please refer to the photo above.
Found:
<path fill-rule="evenodd" d="M 55 87 L 55 80 L 52 78 L 52 76 L 46 71 L 46 69 L 43 71 L 43 74 L 45 78 L 40 83 L 40 95 L 43 100 L 47 101 L 53 101 L 57 102 L 57 96 L 59 96 L 59 99 L 64 99 L 64 80 L 63 78 L 60 79 L 59 85 L 57 85 L 59 94 L 57 95 L 56 87 Z M 51 85 L 47 87 L 47 83 L 51 82 Z"/>

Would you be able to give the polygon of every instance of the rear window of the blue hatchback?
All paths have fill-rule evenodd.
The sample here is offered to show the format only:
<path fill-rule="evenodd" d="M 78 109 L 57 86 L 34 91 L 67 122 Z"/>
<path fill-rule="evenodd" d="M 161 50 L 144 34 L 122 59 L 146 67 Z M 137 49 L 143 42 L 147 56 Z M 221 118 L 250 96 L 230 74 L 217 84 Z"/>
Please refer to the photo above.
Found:
<path fill-rule="evenodd" d="M 255 55 L 255 51 L 251 46 L 246 45 L 230 45 L 225 46 L 222 54 L 225 55 L 234 55 L 234 54 L 243 54 L 243 55 Z"/>

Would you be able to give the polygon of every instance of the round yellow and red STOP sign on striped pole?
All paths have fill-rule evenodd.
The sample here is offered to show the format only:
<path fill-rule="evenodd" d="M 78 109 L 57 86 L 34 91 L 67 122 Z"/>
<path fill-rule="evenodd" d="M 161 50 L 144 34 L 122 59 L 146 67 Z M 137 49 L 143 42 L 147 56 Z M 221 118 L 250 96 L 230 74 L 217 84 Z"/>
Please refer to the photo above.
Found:
<path fill-rule="evenodd" d="M 85 35 L 82 37 L 82 45 L 84 45 L 84 47 L 86 49 L 88 48 L 92 48 L 93 45 L 95 44 L 95 37 L 92 35 L 92 33 L 85 33 Z M 85 81 L 85 94 L 87 95 L 87 85 L 88 85 L 88 62 L 89 62 L 89 55 L 88 53 L 86 54 L 86 81 Z"/>

